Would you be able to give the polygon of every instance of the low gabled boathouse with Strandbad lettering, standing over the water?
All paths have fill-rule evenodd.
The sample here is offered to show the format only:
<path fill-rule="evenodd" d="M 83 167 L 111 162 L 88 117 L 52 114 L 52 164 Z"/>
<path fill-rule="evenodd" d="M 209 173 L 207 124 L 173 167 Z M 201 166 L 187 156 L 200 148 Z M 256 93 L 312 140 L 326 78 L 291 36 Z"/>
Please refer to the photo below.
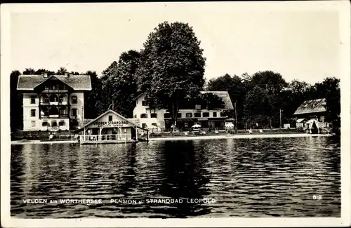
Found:
<path fill-rule="evenodd" d="M 81 144 L 135 142 L 140 140 L 138 139 L 138 129 L 147 131 L 147 129 L 140 128 L 128 121 L 117 112 L 107 110 L 76 130 L 76 133 L 80 134 Z"/>

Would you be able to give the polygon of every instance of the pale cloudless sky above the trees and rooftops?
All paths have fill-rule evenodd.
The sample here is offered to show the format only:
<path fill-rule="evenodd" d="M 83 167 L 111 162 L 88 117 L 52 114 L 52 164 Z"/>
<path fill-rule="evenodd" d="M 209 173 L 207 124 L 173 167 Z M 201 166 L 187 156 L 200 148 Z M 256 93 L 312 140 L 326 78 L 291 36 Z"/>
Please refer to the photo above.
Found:
<path fill-rule="evenodd" d="M 11 13 L 11 69 L 96 71 L 140 50 L 161 22 L 187 22 L 201 41 L 205 78 L 272 70 L 286 81 L 339 75 L 338 11 L 232 3 L 91 4 Z M 252 5 L 251 5 L 252 6 Z"/>

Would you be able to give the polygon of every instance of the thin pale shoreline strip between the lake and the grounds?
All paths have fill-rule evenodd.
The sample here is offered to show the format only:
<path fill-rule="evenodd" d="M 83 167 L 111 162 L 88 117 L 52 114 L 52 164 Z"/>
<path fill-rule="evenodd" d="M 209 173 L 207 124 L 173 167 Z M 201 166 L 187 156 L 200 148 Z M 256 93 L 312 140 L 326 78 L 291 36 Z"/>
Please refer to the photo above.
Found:
<path fill-rule="evenodd" d="M 306 134 L 306 133 L 291 133 L 291 134 L 263 134 L 263 135 L 204 135 L 204 136 L 186 136 L 186 137 L 167 137 L 167 138 L 149 138 L 149 141 L 167 141 L 167 140 L 211 140 L 211 139 L 241 139 L 241 138 L 302 138 L 302 137 L 330 137 L 330 134 Z M 62 140 L 62 141 L 40 141 L 32 140 L 27 142 L 11 141 L 11 145 L 27 145 L 27 144 L 58 144 L 70 143 L 79 144 L 77 140 Z"/>

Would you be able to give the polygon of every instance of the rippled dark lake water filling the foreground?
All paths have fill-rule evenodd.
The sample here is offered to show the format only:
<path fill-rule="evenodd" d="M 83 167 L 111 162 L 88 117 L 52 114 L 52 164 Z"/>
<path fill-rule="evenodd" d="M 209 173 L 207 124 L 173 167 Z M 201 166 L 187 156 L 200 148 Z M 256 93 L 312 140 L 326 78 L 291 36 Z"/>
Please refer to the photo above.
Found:
<path fill-rule="evenodd" d="M 26 199 L 58 203 L 24 203 Z M 159 199 L 178 203 L 154 202 Z M 340 217 L 340 140 L 307 136 L 13 145 L 11 215 Z"/>

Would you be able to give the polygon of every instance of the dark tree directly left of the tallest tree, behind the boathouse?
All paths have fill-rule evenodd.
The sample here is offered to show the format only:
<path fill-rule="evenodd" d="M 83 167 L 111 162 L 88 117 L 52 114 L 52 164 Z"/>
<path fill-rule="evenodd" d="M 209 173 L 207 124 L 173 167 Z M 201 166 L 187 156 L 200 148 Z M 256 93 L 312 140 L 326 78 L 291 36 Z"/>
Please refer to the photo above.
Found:
<path fill-rule="evenodd" d="M 127 117 L 133 116 L 133 103 L 137 96 L 135 71 L 138 69 L 140 53 L 128 51 L 121 53 L 118 62 L 112 62 L 102 72 L 102 90 L 109 99 L 105 109 L 113 104 L 112 109 Z"/>

